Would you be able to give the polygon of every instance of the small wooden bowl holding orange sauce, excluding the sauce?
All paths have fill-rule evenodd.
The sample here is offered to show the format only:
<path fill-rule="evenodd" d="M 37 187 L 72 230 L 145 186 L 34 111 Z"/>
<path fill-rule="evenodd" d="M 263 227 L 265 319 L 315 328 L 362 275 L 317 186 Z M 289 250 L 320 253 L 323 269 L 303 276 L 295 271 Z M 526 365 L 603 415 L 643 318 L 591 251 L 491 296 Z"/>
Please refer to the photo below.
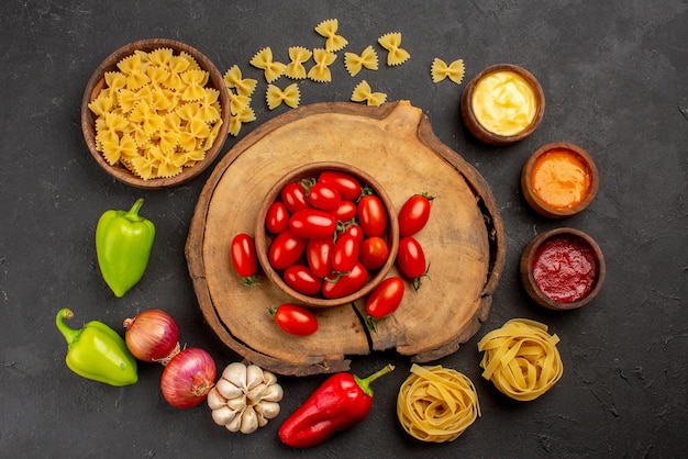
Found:
<path fill-rule="evenodd" d="M 572 201 L 568 204 L 555 206 L 543 200 L 540 193 L 537 193 L 533 183 L 533 168 L 539 160 L 543 158 L 543 156 L 552 152 L 563 152 L 565 154 L 573 155 L 573 158 L 577 163 L 584 165 L 585 169 L 587 169 L 584 173 L 588 177 L 589 186 L 587 187 L 587 190 L 582 191 L 581 199 L 572 198 Z M 564 142 L 552 143 L 540 147 L 528 159 L 528 161 L 525 161 L 525 165 L 521 170 L 521 189 L 523 190 L 525 200 L 531 208 L 535 210 L 535 212 L 550 219 L 564 219 L 577 214 L 586 209 L 597 194 L 599 181 L 599 172 L 590 155 L 588 155 L 588 153 L 579 146 Z"/>

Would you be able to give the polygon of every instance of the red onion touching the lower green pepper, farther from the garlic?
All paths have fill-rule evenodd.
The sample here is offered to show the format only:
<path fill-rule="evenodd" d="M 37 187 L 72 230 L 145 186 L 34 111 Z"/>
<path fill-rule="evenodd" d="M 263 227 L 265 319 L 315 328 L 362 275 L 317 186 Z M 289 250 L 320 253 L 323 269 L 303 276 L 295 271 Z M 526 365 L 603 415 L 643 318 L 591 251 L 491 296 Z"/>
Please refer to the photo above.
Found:
<path fill-rule="evenodd" d="M 126 347 L 138 360 L 167 365 L 179 352 L 179 328 L 165 311 L 143 311 L 124 320 L 124 326 Z"/>

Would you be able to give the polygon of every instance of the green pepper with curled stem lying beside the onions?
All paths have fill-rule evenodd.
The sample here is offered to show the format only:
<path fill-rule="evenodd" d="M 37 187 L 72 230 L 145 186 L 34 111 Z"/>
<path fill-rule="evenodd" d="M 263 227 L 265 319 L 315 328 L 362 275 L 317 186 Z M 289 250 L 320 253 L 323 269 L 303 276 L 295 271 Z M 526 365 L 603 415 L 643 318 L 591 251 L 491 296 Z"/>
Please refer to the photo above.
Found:
<path fill-rule="evenodd" d="M 80 377 L 122 387 L 138 381 L 136 359 L 122 337 L 102 322 L 91 321 L 81 329 L 65 324 L 74 317 L 69 309 L 57 312 L 57 329 L 67 340 L 67 367 Z"/>

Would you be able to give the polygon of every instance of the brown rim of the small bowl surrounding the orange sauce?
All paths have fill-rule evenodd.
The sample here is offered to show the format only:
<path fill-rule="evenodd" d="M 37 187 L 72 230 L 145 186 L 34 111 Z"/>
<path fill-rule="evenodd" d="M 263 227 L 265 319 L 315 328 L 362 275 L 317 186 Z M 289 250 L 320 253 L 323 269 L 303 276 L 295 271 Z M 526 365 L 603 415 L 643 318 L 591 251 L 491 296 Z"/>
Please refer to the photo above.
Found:
<path fill-rule="evenodd" d="M 565 209 L 552 206 L 547 202 L 543 201 L 537 193 L 535 193 L 535 190 L 533 190 L 531 180 L 533 176 L 533 166 L 537 159 L 556 149 L 568 150 L 577 155 L 580 159 L 582 159 L 590 172 L 590 189 L 588 190 L 586 198 L 578 204 Z M 592 157 L 584 148 L 568 142 L 553 142 L 541 146 L 530 156 L 530 158 L 528 158 L 521 170 L 521 190 L 525 201 L 535 212 L 550 219 L 564 219 L 575 215 L 588 208 L 597 195 L 599 181 L 599 171 Z"/>

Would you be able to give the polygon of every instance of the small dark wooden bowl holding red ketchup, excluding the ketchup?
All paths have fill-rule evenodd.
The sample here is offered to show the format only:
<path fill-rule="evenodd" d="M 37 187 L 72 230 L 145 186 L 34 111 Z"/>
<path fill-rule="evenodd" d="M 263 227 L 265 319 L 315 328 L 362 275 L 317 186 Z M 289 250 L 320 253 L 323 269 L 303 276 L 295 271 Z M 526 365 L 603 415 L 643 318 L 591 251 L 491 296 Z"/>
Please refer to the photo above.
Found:
<path fill-rule="evenodd" d="M 543 244 L 561 238 L 564 242 L 574 242 L 578 247 L 584 247 L 591 255 L 595 266 L 595 276 L 590 290 L 581 298 L 573 302 L 563 302 L 554 300 L 541 290 L 535 276 L 533 273 L 533 264 L 539 256 L 539 250 Z M 555 311 L 575 310 L 590 303 L 600 292 L 604 283 L 607 267 L 604 265 L 604 255 L 598 244 L 586 233 L 569 228 L 561 227 L 551 229 L 535 236 L 525 247 L 521 255 L 520 262 L 521 282 L 528 294 L 540 305 Z"/>

